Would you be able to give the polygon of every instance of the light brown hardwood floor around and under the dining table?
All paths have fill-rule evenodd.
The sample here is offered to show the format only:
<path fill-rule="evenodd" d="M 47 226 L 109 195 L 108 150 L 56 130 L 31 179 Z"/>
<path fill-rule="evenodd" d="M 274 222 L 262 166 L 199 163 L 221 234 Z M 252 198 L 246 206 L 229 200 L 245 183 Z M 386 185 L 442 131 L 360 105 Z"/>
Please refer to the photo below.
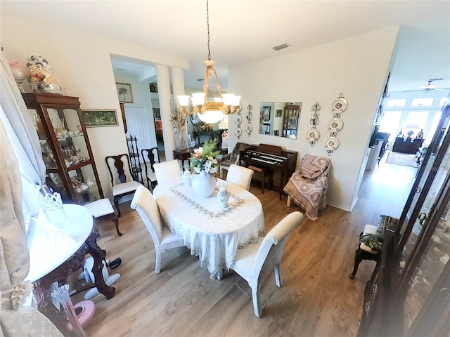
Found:
<path fill-rule="evenodd" d="M 387 157 L 387 156 L 385 156 Z M 123 211 L 122 237 L 113 223 L 98 223 L 98 244 L 107 258 L 122 258 L 115 296 L 97 295 L 89 336 L 356 336 L 364 286 L 373 261 L 363 261 L 349 279 L 359 233 L 376 225 L 381 214 L 399 217 L 417 169 L 385 164 L 368 177 L 354 210 L 327 206 L 319 220 L 306 217 L 283 252 L 283 287 L 269 280 L 261 319 L 253 314 L 250 287 L 234 272 L 210 279 L 187 249 L 166 253 L 155 275 L 155 253 L 136 211 Z M 264 207 L 266 232 L 291 211 L 286 197 L 258 185 L 254 193 Z M 123 207 L 126 209 L 126 207 Z M 76 296 L 75 300 L 76 302 Z"/>

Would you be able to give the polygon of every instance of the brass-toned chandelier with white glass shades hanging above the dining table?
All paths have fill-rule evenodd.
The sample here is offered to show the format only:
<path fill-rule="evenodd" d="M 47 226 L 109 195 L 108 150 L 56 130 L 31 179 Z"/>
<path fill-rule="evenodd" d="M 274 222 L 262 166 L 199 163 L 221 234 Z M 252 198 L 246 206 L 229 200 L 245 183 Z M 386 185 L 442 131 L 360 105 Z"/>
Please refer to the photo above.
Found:
<path fill-rule="evenodd" d="M 201 121 L 204 121 L 207 124 L 214 124 L 221 121 L 221 119 L 224 118 L 224 115 L 235 114 L 238 111 L 240 96 L 236 96 L 233 93 L 222 94 L 220 91 L 219 79 L 217 77 L 217 72 L 214 69 L 214 61 L 211 60 L 208 0 L 206 1 L 206 22 L 208 32 L 208 59 L 203 62 L 206 65 L 203 93 L 193 93 L 191 96 L 179 95 L 178 100 L 184 114 L 192 115 L 197 113 L 197 116 Z M 208 87 L 212 74 L 214 74 L 214 78 L 216 79 L 219 97 L 214 98 L 214 100 L 208 100 Z M 188 111 L 189 98 L 191 98 L 192 103 L 192 109 L 190 111 Z"/>

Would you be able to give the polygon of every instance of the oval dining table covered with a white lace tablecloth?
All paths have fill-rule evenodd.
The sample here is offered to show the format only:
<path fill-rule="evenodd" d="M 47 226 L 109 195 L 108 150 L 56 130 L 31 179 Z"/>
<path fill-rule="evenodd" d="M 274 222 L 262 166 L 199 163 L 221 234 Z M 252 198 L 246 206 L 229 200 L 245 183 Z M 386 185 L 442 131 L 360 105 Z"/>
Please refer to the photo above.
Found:
<path fill-rule="evenodd" d="M 212 279 L 221 279 L 236 261 L 236 251 L 255 244 L 264 236 L 264 213 L 261 201 L 247 190 L 216 179 L 210 197 L 198 197 L 181 176 L 170 183 L 158 184 L 153 197 L 158 204 L 163 223 L 198 256 L 200 266 L 207 267 Z M 217 199 L 219 187 L 229 192 L 227 206 Z"/>

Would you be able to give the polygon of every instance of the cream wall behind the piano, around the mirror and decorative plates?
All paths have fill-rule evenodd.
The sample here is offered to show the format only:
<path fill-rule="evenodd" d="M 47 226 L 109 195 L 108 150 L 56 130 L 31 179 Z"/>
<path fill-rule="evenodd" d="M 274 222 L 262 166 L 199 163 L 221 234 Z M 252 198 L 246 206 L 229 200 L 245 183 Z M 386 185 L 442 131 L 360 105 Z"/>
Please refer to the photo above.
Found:
<path fill-rule="evenodd" d="M 361 166 L 368 140 L 390 70 L 399 27 L 333 41 L 304 51 L 281 55 L 229 71 L 229 91 L 242 95 L 243 117 L 248 103 L 253 106 L 253 132 L 243 133 L 245 143 L 269 143 L 304 154 L 327 157 L 324 142 L 327 124 L 333 118 L 331 103 L 342 93 L 349 105 L 342 113 L 344 128 L 338 133 L 340 147 L 331 154 L 330 187 L 327 203 L 351 211 L 357 200 Z M 259 105 L 262 102 L 302 102 L 297 140 L 259 135 Z M 321 138 L 314 147 L 307 141 L 311 127 L 311 106 L 319 102 Z M 245 121 L 245 118 L 243 118 Z M 237 139 L 233 130 L 236 114 L 229 117 L 229 147 Z M 243 124 L 245 127 L 245 124 Z"/>

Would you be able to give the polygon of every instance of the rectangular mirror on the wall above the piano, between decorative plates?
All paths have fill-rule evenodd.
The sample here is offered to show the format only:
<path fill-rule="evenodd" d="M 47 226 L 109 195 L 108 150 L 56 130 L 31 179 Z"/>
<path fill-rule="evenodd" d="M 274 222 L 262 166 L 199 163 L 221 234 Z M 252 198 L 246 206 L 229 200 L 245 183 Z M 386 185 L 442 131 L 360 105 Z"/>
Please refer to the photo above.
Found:
<path fill-rule="evenodd" d="M 259 133 L 297 139 L 298 121 L 302 103 L 261 103 L 259 110 Z"/>

